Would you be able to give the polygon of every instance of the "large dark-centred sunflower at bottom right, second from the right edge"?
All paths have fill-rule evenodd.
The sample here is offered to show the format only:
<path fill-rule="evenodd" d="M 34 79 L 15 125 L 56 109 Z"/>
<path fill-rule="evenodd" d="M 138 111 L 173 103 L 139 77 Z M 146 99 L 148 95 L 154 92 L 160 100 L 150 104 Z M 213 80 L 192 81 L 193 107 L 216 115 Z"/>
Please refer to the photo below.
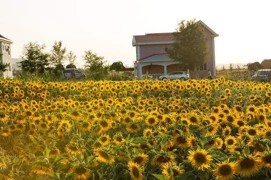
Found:
<path fill-rule="evenodd" d="M 245 155 L 244 157 L 241 157 L 235 165 L 235 171 L 242 177 L 250 177 L 256 174 L 259 169 L 259 161 L 255 157 L 252 157 L 251 154 L 249 156 Z"/>

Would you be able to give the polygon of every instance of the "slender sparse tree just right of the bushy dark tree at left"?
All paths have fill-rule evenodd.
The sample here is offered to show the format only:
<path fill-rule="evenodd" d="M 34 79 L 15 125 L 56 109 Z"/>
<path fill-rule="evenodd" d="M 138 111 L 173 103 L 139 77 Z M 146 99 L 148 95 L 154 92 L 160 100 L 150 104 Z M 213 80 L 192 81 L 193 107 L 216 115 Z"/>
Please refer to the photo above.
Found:
<path fill-rule="evenodd" d="M 55 41 L 53 48 L 50 54 L 50 61 L 53 66 L 57 66 L 57 64 L 63 64 L 66 60 L 66 47 L 62 47 L 62 41 Z"/>

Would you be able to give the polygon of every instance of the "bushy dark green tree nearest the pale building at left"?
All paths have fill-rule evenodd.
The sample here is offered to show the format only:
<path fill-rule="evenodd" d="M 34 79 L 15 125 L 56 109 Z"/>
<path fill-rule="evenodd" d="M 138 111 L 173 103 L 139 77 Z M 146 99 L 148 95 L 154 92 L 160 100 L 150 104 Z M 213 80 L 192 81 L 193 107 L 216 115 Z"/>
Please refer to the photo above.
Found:
<path fill-rule="evenodd" d="M 24 72 L 39 72 L 43 73 L 45 68 L 49 65 L 50 54 L 45 52 L 45 44 L 39 45 L 38 42 L 29 42 L 23 47 L 22 61 L 17 62 L 18 67 L 22 68 Z"/>

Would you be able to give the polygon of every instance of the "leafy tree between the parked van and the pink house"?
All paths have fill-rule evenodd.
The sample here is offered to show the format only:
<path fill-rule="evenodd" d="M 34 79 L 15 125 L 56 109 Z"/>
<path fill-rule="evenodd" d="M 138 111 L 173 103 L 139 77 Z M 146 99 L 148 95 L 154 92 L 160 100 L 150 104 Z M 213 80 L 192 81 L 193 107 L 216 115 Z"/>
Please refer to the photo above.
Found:
<path fill-rule="evenodd" d="M 85 67 L 89 71 L 93 79 L 101 79 L 108 74 L 108 67 L 105 65 L 104 57 L 98 56 L 92 50 L 85 51 L 85 56 L 82 56 L 86 61 Z"/>

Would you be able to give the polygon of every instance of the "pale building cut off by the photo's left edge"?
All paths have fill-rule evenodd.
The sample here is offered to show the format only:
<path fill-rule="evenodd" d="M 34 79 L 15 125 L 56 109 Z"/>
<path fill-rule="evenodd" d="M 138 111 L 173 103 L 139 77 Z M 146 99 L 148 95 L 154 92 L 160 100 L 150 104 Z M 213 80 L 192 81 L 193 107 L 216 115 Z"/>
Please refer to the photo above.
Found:
<path fill-rule="evenodd" d="M 8 77 L 12 76 L 12 56 L 11 56 L 11 44 L 12 40 L 4 37 L 0 34 L 0 54 L 2 54 L 2 58 L 0 58 L 0 62 L 4 64 L 9 64 L 8 70 L 5 72 L 0 72 L 0 76 Z M 1 56 L 0 56 L 1 57 Z"/>

